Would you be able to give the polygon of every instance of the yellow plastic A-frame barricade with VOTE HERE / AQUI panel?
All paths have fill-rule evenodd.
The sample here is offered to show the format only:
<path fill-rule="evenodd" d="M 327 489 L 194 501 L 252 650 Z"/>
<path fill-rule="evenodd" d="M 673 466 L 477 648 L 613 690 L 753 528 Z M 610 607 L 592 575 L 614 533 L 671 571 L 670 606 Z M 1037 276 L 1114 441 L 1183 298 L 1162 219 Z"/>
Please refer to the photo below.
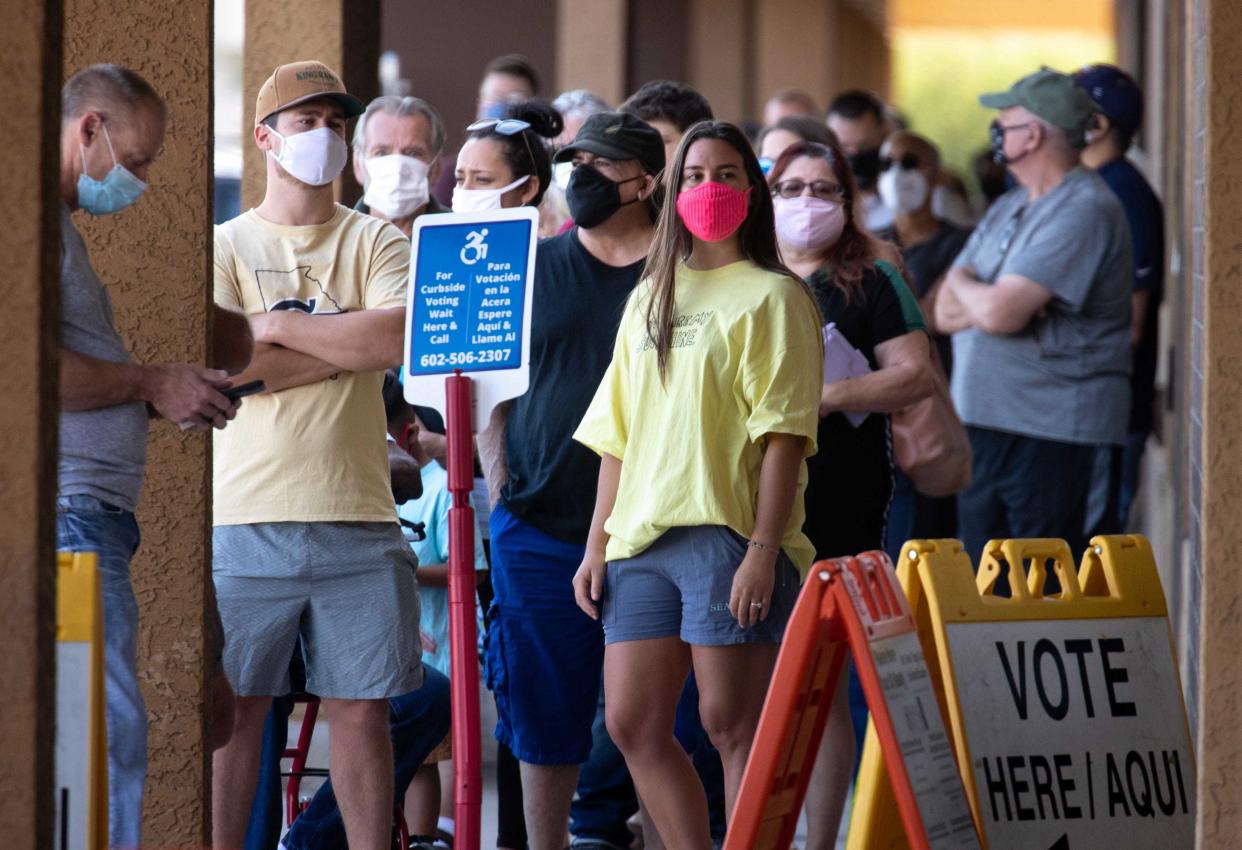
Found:
<path fill-rule="evenodd" d="M 1045 595 L 1049 570 L 1059 590 Z M 995 595 L 1009 578 L 1011 596 Z M 898 578 L 985 846 L 1194 846 L 1195 757 L 1151 547 L 905 544 Z M 868 728 L 850 850 L 907 848 Z"/>

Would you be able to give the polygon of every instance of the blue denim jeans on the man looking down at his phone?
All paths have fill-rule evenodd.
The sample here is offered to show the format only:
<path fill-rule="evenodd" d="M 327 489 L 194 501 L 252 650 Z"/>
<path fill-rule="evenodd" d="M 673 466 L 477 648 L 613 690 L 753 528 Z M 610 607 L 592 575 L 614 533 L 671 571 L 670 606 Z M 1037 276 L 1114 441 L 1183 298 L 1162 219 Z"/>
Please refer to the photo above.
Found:
<path fill-rule="evenodd" d="M 94 552 L 103 592 L 104 724 L 108 733 L 108 846 L 139 846 L 147 778 L 147 706 L 138 688 L 138 600 L 129 562 L 138 551 L 129 511 L 94 496 L 56 502 L 56 548 Z"/>

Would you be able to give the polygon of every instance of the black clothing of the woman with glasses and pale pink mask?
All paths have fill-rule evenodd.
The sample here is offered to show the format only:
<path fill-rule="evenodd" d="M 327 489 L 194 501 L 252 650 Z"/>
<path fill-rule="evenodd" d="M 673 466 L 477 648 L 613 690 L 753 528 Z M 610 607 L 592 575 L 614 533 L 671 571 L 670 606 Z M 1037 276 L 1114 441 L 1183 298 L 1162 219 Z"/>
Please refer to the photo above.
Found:
<path fill-rule="evenodd" d="M 903 311 L 902 293 L 877 267 L 857 290 L 835 286 L 823 270 L 807 283 L 825 324 L 833 322 L 846 340 L 871 364 L 876 347 L 922 329 L 917 309 Z M 908 298 L 909 296 L 907 296 Z M 854 555 L 884 546 L 884 524 L 893 492 L 892 436 L 887 414 L 871 414 L 854 427 L 845 414 L 820 420 L 820 451 L 807 459 L 806 524 L 816 558 Z"/>

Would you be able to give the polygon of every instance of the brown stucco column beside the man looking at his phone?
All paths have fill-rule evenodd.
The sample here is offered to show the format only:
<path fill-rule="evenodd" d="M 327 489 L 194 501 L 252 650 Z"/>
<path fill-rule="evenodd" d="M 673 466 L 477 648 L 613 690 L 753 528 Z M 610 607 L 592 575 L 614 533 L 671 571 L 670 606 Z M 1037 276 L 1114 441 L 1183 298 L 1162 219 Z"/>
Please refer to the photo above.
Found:
<path fill-rule="evenodd" d="M 133 209 L 79 216 L 117 327 L 143 363 L 206 363 L 211 299 L 211 2 L 66 0 L 65 72 L 118 62 L 168 103 L 164 149 Z M 140 35 L 140 37 L 135 37 Z M 205 616 L 211 580 L 209 451 L 200 434 L 152 423 L 133 563 L 150 769 L 143 844 L 201 848 L 210 835 Z"/>

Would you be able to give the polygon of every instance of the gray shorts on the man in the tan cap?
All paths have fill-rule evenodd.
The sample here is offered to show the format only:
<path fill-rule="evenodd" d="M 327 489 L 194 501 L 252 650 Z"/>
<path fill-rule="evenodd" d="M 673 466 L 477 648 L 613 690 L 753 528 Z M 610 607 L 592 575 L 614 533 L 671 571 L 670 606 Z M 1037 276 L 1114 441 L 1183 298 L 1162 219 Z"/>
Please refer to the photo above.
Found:
<path fill-rule="evenodd" d="M 225 672 L 238 696 L 288 693 L 298 639 L 317 696 L 381 700 L 422 683 L 417 559 L 400 526 L 216 526 L 211 542 Z"/>

